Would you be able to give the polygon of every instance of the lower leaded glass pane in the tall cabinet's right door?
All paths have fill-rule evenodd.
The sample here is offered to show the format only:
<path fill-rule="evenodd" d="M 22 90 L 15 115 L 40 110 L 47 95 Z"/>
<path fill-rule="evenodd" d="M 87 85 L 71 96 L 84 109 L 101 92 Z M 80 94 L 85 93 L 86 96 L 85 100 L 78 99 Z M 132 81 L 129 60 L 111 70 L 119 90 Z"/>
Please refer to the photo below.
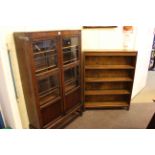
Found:
<path fill-rule="evenodd" d="M 64 71 L 65 92 L 79 86 L 79 68 L 74 67 Z"/>

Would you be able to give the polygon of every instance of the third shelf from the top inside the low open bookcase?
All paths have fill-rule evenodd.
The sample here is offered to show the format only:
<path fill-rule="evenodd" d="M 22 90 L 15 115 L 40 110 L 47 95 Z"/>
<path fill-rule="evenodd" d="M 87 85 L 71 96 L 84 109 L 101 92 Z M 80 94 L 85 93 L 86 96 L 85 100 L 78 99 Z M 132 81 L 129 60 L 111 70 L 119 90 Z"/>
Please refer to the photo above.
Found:
<path fill-rule="evenodd" d="M 128 90 L 86 90 L 85 95 L 122 95 L 130 94 Z"/>

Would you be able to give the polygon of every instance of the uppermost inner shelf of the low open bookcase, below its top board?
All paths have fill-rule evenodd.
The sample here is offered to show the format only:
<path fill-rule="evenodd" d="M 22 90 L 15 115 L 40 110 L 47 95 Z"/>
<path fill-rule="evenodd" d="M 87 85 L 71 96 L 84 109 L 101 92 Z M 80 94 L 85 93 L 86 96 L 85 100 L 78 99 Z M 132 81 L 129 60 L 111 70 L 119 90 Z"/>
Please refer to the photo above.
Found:
<path fill-rule="evenodd" d="M 85 69 L 134 69 L 131 65 L 87 65 Z"/>

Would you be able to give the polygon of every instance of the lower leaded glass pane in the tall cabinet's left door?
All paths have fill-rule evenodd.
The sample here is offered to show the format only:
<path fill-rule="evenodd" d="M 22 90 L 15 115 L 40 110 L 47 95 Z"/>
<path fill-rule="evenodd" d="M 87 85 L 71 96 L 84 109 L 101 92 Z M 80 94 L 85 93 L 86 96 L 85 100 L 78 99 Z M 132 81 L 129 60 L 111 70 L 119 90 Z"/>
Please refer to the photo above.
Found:
<path fill-rule="evenodd" d="M 58 74 L 39 80 L 38 92 L 41 104 L 58 97 L 60 95 Z"/>

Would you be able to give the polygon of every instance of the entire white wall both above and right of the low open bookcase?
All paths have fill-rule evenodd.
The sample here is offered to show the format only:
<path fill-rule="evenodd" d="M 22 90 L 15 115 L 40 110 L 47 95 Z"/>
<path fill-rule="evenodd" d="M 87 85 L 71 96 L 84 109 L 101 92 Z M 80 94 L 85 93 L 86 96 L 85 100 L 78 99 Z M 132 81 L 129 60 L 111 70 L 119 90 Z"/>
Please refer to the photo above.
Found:
<path fill-rule="evenodd" d="M 84 29 L 82 38 L 83 50 L 124 48 L 124 36 L 121 26 L 114 29 Z M 138 57 L 132 98 L 146 85 L 152 40 L 153 27 L 134 27 L 130 49 L 137 50 Z"/>

